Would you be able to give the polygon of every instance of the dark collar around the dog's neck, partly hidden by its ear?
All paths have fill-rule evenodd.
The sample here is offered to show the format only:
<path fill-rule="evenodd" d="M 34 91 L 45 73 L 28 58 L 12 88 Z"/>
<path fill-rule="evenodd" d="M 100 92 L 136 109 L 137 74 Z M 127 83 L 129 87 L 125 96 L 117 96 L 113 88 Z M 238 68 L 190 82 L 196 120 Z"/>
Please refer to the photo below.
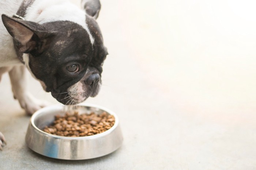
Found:
<path fill-rule="evenodd" d="M 21 19 L 21 20 L 25 20 L 24 17 L 25 17 L 25 14 L 26 14 L 26 10 L 27 10 L 27 7 L 31 6 L 33 3 L 34 3 L 35 0 L 23 0 L 22 3 L 20 4 L 20 7 L 16 13 L 16 15 L 13 15 L 12 17 L 14 18 L 17 18 L 17 19 Z M 14 48 L 15 48 L 15 51 L 16 51 L 16 54 L 19 58 L 19 60 L 23 63 L 23 53 L 22 52 L 19 52 L 17 46 L 18 46 L 18 42 L 16 40 L 13 40 L 13 43 L 14 43 Z"/>

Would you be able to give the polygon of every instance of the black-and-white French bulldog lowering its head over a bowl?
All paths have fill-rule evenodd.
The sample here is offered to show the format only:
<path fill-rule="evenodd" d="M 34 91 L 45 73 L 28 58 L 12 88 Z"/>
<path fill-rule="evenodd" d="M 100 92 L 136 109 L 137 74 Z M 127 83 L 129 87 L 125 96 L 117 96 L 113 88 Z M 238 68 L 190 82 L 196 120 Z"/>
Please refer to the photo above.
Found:
<path fill-rule="evenodd" d="M 83 9 L 68 0 L 34 0 L 25 16 L 12 17 L 27 1 L 0 1 L 0 78 L 9 73 L 14 98 L 28 114 L 45 106 L 27 91 L 26 68 L 60 103 L 96 96 L 108 55 L 96 22 L 99 0 L 82 0 Z M 0 149 L 5 142 L 0 132 Z"/>

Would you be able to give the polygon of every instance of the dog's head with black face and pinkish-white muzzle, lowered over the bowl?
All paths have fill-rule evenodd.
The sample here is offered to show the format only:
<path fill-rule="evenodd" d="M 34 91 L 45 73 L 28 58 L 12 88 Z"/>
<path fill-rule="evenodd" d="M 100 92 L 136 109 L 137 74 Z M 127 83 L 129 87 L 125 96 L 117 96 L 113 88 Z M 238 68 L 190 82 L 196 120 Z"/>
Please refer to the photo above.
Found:
<path fill-rule="evenodd" d="M 95 21 L 99 8 L 87 13 L 87 30 L 72 21 L 38 24 L 2 15 L 19 52 L 28 54 L 25 63 L 31 73 L 63 104 L 77 104 L 99 92 L 108 54 Z"/>

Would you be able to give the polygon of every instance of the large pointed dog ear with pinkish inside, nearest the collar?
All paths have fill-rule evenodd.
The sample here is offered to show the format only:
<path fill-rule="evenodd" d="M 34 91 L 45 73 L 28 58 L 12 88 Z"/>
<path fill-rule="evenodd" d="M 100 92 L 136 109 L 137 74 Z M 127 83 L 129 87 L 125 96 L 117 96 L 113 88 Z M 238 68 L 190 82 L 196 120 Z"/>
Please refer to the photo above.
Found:
<path fill-rule="evenodd" d="M 14 19 L 2 15 L 2 21 L 10 35 L 18 41 L 17 48 L 22 53 L 29 53 L 38 46 L 38 41 L 49 36 L 43 25 L 31 21 Z"/>

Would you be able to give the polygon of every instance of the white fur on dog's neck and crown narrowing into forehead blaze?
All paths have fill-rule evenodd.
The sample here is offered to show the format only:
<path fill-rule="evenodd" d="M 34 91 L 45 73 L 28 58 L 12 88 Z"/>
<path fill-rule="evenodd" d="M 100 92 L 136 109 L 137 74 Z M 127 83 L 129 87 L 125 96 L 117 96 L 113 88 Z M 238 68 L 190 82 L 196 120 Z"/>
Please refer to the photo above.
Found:
<path fill-rule="evenodd" d="M 72 21 L 81 25 L 89 35 L 91 44 L 94 38 L 86 23 L 86 13 L 68 0 L 35 0 L 27 9 L 26 20 L 39 24 L 53 21 Z"/>

